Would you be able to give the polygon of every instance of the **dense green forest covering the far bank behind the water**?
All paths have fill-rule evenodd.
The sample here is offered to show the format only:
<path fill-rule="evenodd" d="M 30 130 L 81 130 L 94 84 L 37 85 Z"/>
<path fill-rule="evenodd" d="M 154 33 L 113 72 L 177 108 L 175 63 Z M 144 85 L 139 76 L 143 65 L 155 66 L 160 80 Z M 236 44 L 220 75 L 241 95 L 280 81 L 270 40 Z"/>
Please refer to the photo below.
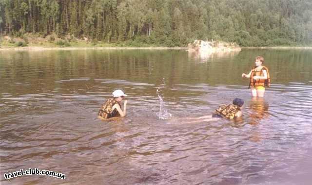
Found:
<path fill-rule="evenodd" d="M 0 34 L 73 35 L 103 43 L 312 44 L 312 0 L 0 0 Z"/>

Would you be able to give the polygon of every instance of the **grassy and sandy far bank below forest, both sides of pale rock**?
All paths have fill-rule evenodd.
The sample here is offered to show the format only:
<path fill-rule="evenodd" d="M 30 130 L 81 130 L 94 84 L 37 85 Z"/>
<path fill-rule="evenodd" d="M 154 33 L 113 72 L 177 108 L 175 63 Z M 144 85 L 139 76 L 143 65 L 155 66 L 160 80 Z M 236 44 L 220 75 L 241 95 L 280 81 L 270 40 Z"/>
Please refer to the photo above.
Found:
<path fill-rule="evenodd" d="M 186 46 L 185 46 L 186 47 Z M 312 49 L 312 46 L 270 46 L 246 47 L 248 49 Z M 23 34 L 21 37 L 0 36 L 0 50 L 75 50 L 75 49 L 186 49 L 184 47 L 167 47 L 164 44 L 151 44 L 147 40 L 128 40 L 124 42 L 105 43 L 76 38 L 67 35 L 63 38 L 56 34 L 42 37 L 39 34 Z"/>

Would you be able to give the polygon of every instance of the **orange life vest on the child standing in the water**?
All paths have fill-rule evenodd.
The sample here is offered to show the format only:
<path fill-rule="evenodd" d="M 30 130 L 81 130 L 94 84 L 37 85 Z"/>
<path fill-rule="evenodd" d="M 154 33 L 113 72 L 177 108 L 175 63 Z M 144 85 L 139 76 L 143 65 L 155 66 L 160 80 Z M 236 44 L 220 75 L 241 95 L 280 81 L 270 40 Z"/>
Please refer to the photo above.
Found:
<path fill-rule="evenodd" d="M 269 74 L 269 69 L 265 66 L 262 66 L 262 69 L 257 71 L 256 70 L 257 67 L 253 67 L 252 69 L 252 73 L 250 75 L 250 82 L 249 82 L 249 87 L 250 86 L 267 86 L 270 87 L 271 85 L 271 79 L 270 79 L 270 74 Z M 258 80 L 254 80 L 254 76 L 264 76 L 263 75 L 263 70 L 267 71 L 267 77 L 268 79 L 258 79 Z"/>

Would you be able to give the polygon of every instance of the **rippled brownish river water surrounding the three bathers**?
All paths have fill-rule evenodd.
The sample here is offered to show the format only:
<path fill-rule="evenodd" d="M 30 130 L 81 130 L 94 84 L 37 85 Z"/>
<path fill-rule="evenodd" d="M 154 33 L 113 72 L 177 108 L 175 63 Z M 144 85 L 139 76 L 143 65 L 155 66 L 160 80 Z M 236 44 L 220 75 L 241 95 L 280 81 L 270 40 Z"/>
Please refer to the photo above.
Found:
<path fill-rule="evenodd" d="M 264 56 L 272 85 L 253 100 L 241 74 Z M 0 51 L 1 184 L 308 185 L 312 50 Z M 116 89 L 127 116 L 97 118 Z M 189 123 L 242 98 L 240 121 Z M 66 179 L 28 175 L 48 169 Z"/>

